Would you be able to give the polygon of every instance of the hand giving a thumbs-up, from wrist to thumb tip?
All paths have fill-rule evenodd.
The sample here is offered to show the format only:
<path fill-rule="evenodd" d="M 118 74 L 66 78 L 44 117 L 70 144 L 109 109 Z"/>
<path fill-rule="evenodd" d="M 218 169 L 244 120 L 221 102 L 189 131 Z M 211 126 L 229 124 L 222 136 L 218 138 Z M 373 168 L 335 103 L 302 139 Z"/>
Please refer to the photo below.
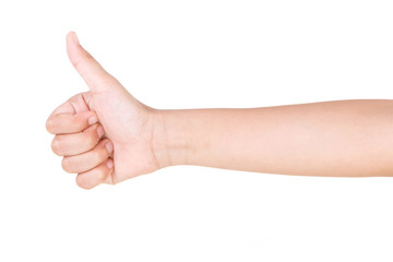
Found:
<path fill-rule="evenodd" d="M 76 183 L 91 189 L 160 168 L 159 111 L 136 100 L 108 74 L 73 32 L 67 36 L 67 51 L 90 92 L 71 97 L 47 120 L 63 169 L 78 174 Z"/>

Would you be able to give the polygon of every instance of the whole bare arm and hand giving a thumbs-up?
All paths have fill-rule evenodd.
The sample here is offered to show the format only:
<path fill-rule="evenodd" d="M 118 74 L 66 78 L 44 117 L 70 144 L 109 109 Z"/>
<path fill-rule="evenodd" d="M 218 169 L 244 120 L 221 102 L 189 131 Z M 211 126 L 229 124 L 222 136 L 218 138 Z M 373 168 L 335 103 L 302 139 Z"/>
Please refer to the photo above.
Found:
<path fill-rule="evenodd" d="M 52 151 L 84 189 L 174 165 L 298 176 L 393 175 L 393 102 L 158 110 L 135 99 L 67 35 L 90 91 L 49 116 Z"/>

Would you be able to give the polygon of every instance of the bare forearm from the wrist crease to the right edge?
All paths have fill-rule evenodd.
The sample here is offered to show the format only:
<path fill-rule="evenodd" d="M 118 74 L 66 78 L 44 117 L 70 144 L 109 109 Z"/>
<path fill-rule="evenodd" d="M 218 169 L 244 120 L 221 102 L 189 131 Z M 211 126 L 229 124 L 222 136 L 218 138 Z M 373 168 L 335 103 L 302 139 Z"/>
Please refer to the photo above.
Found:
<path fill-rule="evenodd" d="M 393 175 L 393 100 L 160 115 L 166 166 L 308 176 Z"/>

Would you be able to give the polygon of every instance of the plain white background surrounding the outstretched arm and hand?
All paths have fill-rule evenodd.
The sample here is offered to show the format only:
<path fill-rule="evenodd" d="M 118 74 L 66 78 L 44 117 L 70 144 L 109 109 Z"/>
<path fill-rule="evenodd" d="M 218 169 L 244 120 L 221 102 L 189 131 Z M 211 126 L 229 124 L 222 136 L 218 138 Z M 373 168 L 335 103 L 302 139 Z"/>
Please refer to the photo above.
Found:
<path fill-rule="evenodd" d="M 71 29 L 148 106 L 262 107 L 392 98 L 392 14 L 378 0 L 2 0 L 0 261 L 392 261 L 392 178 L 178 166 L 86 191 L 45 129 L 87 90 Z"/>

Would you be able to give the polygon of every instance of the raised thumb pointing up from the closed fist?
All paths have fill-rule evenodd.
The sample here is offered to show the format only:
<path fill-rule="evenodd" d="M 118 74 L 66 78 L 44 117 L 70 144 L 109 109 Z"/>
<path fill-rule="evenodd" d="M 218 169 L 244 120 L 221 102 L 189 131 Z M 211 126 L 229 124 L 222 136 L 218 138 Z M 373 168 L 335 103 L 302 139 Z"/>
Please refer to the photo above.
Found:
<path fill-rule="evenodd" d="M 114 85 L 119 85 L 119 82 L 80 45 L 75 32 L 67 35 L 67 52 L 91 92 L 105 92 Z"/>

